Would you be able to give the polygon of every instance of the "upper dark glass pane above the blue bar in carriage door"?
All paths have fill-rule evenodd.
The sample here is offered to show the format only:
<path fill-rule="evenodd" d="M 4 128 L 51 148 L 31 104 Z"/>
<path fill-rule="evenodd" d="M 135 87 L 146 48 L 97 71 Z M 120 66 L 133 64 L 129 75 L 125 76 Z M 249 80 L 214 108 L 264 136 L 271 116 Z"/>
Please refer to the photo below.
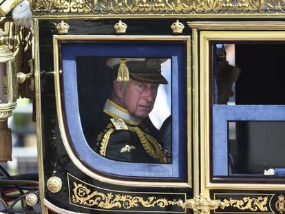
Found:
<path fill-rule="evenodd" d="M 213 45 L 213 104 L 285 105 L 285 44 Z"/>

